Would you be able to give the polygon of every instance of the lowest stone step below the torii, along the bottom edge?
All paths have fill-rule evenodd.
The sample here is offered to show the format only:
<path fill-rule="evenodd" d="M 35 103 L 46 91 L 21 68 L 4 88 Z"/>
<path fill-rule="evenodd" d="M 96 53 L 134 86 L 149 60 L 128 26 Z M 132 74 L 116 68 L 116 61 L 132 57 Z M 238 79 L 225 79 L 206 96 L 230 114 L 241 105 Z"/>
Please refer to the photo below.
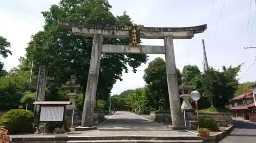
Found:
<path fill-rule="evenodd" d="M 109 143 L 109 142 L 115 142 L 115 143 L 132 143 L 132 142 L 139 142 L 139 143 L 202 143 L 203 140 L 69 140 L 67 143 Z"/>

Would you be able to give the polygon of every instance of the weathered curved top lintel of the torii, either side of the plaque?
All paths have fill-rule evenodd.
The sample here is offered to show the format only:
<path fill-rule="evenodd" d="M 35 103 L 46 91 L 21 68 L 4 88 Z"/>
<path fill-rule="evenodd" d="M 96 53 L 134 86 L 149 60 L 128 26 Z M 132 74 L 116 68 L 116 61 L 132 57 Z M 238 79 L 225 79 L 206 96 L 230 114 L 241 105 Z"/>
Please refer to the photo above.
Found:
<path fill-rule="evenodd" d="M 59 26 L 72 29 L 75 35 L 92 37 L 94 34 L 101 34 L 103 37 L 129 38 L 129 26 L 113 25 L 86 25 L 75 22 L 59 21 Z M 207 24 L 192 27 L 141 27 L 140 38 L 162 39 L 166 36 L 173 36 L 174 39 L 190 39 L 194 34 L 203 33 Z"/>

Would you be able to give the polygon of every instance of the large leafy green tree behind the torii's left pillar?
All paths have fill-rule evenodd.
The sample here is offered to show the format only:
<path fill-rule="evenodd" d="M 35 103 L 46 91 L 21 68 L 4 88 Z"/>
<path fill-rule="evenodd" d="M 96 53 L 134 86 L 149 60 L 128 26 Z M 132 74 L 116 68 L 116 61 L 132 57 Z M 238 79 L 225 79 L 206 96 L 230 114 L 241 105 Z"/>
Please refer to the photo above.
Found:
<path fill-rule="evenodd" d="M 86 92 L 93 38 L 75 36 L 70 30 L 59 27 L 58 20 L 102 25 L 133 25 L 131 18 L 124 13 L 114 16 L 109 10 L 108 1 L 60 1 L 49 11 L 42 12 L 45 17 L 44 31 L 32 36 L 28 43 L 26 57 L 34 61 L 35 71 L 39 65 L 48 66 L 48 77 L 54 87 L 69 80 L 76 74 L 82 92 Z M 103 39 L 103 44 L 128 44 L 128 39 Z M 97 99 L 107 100 L 113 84 L 122 80 L 122 71 L 127 65 L 136 68 L 147 61 L 145 54 L 101 54 Z M 34 73 L 37 75 L 37 72 Z M 107 95 L 107 96 L 106 96 Z"/>

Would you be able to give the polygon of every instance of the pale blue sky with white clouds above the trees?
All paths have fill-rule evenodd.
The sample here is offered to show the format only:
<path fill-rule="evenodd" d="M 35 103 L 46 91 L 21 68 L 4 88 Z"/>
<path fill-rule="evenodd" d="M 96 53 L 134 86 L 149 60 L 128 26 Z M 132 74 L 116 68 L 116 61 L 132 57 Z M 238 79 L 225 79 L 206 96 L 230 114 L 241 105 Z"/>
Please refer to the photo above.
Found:
<path fill-rule="evenodd" d="M 25 47 L 31 35 L 42 30 L 44 17 L 41 11 L 46 11 L 59 0 L 13 0 L 2 1 L 0 5 L 0 35 L 11 43 L 13 55 L 1 59 L 5 68 L 10 70 L 18 65 L 19 56 L 25 54 Z M 109 0 L 113 6 L 114 15 L 121 15 L 127 11 L 135 23 L 155 27 L 181 27 L 208 24 L 207 31 L 197 34 L 190 40 L 175 40 L 176 66 L 182 70 L 184 65 L 197 65 L 203 70 L 203 51 L 201 39 L 205 39 L 208 64 L 216 69 L 225 66 L 237 66 L 244 63 L 240 78 L 255 60 L 256 48 L 244 49 L 246 46 L 256 46 L 256 21 L 253 24 L 256 4 L 252 0 L 249 28 L 250 0 L 226 0 L 219 19 L 224 0 L 216 0 L 210 17 L 214 0 Z M 218 22 L 219 19 L 219 22 Z M 247 40 L 246 40 L 247 33 Z M 163 45 L 163 40 L 146 39 L 144 45 Z M 164 58 L 161 54 L 151 54 L 150 61 L 156 57 Z M 143 70 L 147 64 L 138 68 L 136 74 L 123 74 L 123 81 L 114 85 L 112 94 L 119 94 L 123 90 L 144 86 Z M 240 79 L 240 82 L 255 81 L 256 64 Z M 131 78 L 132 77 L 132 78 Z"/>

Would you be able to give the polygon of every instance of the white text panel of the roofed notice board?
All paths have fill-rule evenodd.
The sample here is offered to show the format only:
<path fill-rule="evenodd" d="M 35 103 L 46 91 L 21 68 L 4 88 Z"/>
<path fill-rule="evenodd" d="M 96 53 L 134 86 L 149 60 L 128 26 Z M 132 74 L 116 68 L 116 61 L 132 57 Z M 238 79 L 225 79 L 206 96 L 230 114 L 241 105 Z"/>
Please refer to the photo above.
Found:
<path fill-rule="evenodd" d="M 63 121 L 63 106 L 41 106 L 40 120 L 41 122 L 61 122 Z"/>

